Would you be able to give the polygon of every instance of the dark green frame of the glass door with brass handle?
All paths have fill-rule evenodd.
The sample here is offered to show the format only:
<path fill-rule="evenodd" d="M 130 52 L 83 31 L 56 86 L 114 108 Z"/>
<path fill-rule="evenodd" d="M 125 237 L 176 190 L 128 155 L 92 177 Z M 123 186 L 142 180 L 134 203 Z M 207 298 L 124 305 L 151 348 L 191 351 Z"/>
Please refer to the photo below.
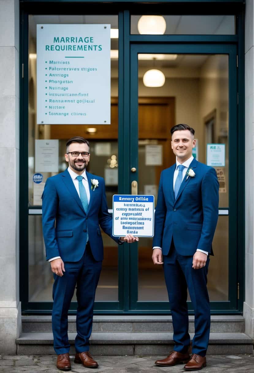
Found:
<path fill-rule="evenodd" d="M 229 56 L 229 301 L 211 302 L 214 313 L 223 311 L 236 311 L 237 302 L 237 185 L 235 183 L 235 164 L 237 164 L 237 71 L 236 71 L 236 45 L 235 44 L 132 44 L 131 45 L 131 167 L 138 171 L 138 53 L 171 53 L 171 54 L 228 54 Z M 171 150 L 168 150 L 171 151 Z M 138 175 L 138 172 L 137 172 Z M 133 179 L 137 180 L 137 175 Z M 132 180 L 131 180 L 132 181 Z M 168 302 L 138 301 L 138 250 L 137 244 L 131 246 L 131 310 L 150 310 L 161 313 L 169 311 Z M 189 310 L 193 311 L 191 302 Z"/>

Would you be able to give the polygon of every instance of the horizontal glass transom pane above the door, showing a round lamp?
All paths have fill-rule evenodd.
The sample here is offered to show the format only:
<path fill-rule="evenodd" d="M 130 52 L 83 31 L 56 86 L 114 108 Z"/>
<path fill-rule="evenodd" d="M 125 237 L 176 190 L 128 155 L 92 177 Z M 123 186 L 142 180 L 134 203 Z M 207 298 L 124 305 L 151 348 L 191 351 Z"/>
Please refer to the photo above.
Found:
<path fill-rule="evenodd" d="M 234 35 L 235 16 L 131 16 L 131 34 Z"/>

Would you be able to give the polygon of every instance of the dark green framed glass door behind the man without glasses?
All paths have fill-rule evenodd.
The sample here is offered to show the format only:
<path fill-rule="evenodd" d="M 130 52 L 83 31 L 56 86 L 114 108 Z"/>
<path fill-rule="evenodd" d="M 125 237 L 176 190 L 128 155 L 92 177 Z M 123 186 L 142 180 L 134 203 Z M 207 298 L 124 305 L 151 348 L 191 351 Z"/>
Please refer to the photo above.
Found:
<path fill-rule="evenodd" d="M 219 219 L 213 240 L 208 290 L 212 311 L 237 306 L 236 47 L 233 45 L 135 44 L 131 46 L 131 181 L 138 194 L 153 194 L 160 173 L 175 163 L 170 129 L 195 129 L 193 155 L 207 163 L 207 147 L 225 144 L 225 166 L 215 167 Z M 230 141 L 229 141 L 230 139 Z M 229 157 L 230 154 L 230 157 Z M 232 170 L 232 171 L 231 171 Z M 230 179 L 231 178 L 231 179 Z M 169 311 L 163 269 L 152 263 L 152 239 L 130 248 L 131 310 Z M 230 279 L 230 282 L 229 282 Z M 191 302 L 190 310 L 193 309 Z"/>

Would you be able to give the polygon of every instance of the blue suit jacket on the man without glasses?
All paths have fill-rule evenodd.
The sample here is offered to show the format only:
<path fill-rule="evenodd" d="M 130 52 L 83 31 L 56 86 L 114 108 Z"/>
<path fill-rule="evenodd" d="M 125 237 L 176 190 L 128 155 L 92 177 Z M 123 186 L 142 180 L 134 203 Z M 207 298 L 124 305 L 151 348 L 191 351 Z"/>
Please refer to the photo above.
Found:
<path fill-rule="evenodd" d="M 182 181 L 177 198 L 173 190 L 176 164 L 161 173 L 155 211 L 153 246 L 168 255 L 172 238 L 177 252 L 193 255 L 197 249 L 213 255 L 212 241 L 218 221 L 219 183 L 215 169 L 197 162 L 190 164 L 195 176 Z"/>

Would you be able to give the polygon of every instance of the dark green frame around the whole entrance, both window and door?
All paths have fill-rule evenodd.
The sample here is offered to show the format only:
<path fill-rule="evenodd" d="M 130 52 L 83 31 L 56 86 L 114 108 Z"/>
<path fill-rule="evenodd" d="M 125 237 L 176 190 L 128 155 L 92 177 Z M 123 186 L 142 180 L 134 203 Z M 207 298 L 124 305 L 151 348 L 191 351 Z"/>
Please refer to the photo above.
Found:
<path fill-rule="evenodd" d="M 244 150 L 244 131 L 239 123 L 244 123 L 244 18 L 243 1 L 172 1 L 171 14 L 234 14 L 236 15 L 236 35 L 131 35 L 131 14 L 166 14 L 168 1 L 153 1 L 142 4 L 143 0 L 134 4 L 134 1 L 114 1 L 104 3 L 98 0 L 58 2 L 45 0 L 20 1 L 20 300 L 23 314 L 50 314 L 52 302 L 33 303 L 28 298 L 28 15 L 29 14 L 58 14 L 61 3 L 61 14 L 118 14 L 119 28 L 119 72 L 118 72 L 118 154 L 119 169 L 123 170 L 119 178 L 118 190 L 121 194 L 130 193 L 131 181 L 134 174 L 131 167 L 138 167 L 137 162 L 137 109 L 133 87 L 132 73 L 134 52 L 142 50 L 163 50 L 165 45 L 170 50 L 179 50 L 181 53 L 229 53 L 231 107 L 235 109 L 234 131 L 230 133 L 231 146 L 238 151 L 230 153 L 231 170 L 238 167 L 238 179 L 230 172 L 230 188 L 236 185 L 236 191 L 230 195 L 229 219 L 232 235 L 229 247 L 232 246 L 229 257 L 229 299 L 228 302 L 212 302 L 212 313 L 241 314 L 244 301 L 244 159 L 241 156 Z M 45 3 L 50 7 L 45 9 Z M 165 4 L 166 3 L 166 4 Z M 98 7 L 99 4 L 99 7 Z M 71 11 L 70 11 L 71 9 Z M 150 48 L 150 49 L 149 49 Z M 195 49 L 196 48 L 196 49 Z M 215 52 L 216 50 L 216 52 Z M 132 54 L 131 54 L 132 51 Z M 189 52 L 188 52 L 189 51 Z M 210 52 L 209 52 L 210 51 Z M 158 52 L 156 52 L 158 53 Z M 173 53 L 173 52 L 168 52 Z M 236 54 L 238 54 L 238 69 L 234 67 Z M 24 64 L 22 78 L 22 63 Z M 137 70 L 137 68 L 136 68 Z M 234 70 L 234 72 L 233 72 Z M 136 72 L 135 72 L 136 74 Z M 136 79 L 136 78 L 135 78 Z M 238 106 L 237 92 L 239 93 Z M 137 97 L 137 96 L 136 96 Z M 232 118 L 231 118 L 232 119 Z M 231 120 L 230 119 L 230 120 Z M 232 126 L 232 122 L 231 122 Z M 241 129 L 241 132 L 240 132 Z M 137 175 L 137 174 L 136 174 Z M 31 209 L 31 207 L 30 207 Z M 234 219 L 237 216 L 237 220 Z M 232 224 L 231 224 L 232 223 Z M 124 246 L 124 247 L 123 247 Z M 95 314 L 169 314 L 168 302 L 137 302 L 137 245 L 124 244 L 118 249 L 118 302 L 96 302 Z M 238 247 L 238 249 L 237 249 Z M 241 248 L 241 249 L 240 249 Z M 235 259 L 237 258 L 237 260 Z M 136 264 L 135 264 L 136 263 Z M 239 283 L 239 300 L 237 300 L 237 283 Z M 136 290 L 135 290 L 136 287 Z M 76 313 L 76 303 L 70 308 L 70 314 Z M 190 305 L 190 313 L 192 313 Z"/>

